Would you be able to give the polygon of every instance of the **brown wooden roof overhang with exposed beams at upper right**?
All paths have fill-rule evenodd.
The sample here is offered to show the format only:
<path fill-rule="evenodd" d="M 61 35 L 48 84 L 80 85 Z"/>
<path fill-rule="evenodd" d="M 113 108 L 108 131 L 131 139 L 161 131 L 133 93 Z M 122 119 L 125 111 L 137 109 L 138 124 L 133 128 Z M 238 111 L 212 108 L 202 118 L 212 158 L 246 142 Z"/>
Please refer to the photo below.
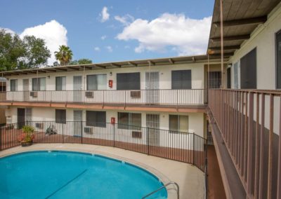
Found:
<path fill-rule="evenodd" d="M 280 0 L 223 0 L 223 53 L 240 49 Z M 215 0 L 207 52 L 221 53 L 220 0 Z"/>

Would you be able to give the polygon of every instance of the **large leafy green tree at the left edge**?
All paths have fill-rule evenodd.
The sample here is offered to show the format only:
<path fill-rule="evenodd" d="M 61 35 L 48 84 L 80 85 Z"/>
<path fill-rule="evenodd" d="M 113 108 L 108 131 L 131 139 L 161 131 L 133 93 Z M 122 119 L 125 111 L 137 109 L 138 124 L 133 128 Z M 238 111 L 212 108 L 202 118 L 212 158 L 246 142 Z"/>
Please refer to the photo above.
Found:
<path fill-rule="evenodd" d="M 11 34 L 0 29 L 0 71 L 30 69 L 46 64 L 51 56 L 43 39 Z"/>

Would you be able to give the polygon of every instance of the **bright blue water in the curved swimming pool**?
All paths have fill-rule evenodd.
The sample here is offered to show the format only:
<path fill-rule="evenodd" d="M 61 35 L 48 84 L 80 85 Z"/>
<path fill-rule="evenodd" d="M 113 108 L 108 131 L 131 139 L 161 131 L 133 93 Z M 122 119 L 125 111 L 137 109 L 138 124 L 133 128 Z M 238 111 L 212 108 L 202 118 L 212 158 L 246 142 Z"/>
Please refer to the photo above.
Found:
<path fill-rule="evenodd" d="M 0 198 L 141 198 L 162 186 L 140 167 L 89 153 L 34 151 L 0 158 Z M 150 198 L 167 198 L 166 189 Z"/>

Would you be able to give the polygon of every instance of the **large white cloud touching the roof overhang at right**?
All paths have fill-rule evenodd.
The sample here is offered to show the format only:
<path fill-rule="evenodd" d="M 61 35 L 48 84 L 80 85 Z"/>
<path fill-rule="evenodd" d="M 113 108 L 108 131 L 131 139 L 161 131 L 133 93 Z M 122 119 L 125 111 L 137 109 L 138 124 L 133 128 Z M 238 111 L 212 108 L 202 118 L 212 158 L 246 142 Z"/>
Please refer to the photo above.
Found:
<path fill-rule="evenodd" d="M 134 20 L 124 27 L 117 39 L 137 40 L 136 53 L 163 52 L 171 47 L 178 55 L 198 55 L 206 53 L 210 27 L 211 16 L 195 20 L 183 14 L 164 13 L 152 21 Z"/>

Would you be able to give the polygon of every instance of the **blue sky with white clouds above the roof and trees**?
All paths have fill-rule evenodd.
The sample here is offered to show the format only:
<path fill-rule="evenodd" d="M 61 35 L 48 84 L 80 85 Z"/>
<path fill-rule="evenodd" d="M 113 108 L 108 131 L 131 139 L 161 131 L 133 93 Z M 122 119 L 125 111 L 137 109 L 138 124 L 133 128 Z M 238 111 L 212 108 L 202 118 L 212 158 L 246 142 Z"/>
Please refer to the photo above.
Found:
<path fill-rule="evenodd" d="M 0 28 L 34 35 L 73 60 L 116 62 L 207 51 L 214 0 L 1 0 Z"/>

